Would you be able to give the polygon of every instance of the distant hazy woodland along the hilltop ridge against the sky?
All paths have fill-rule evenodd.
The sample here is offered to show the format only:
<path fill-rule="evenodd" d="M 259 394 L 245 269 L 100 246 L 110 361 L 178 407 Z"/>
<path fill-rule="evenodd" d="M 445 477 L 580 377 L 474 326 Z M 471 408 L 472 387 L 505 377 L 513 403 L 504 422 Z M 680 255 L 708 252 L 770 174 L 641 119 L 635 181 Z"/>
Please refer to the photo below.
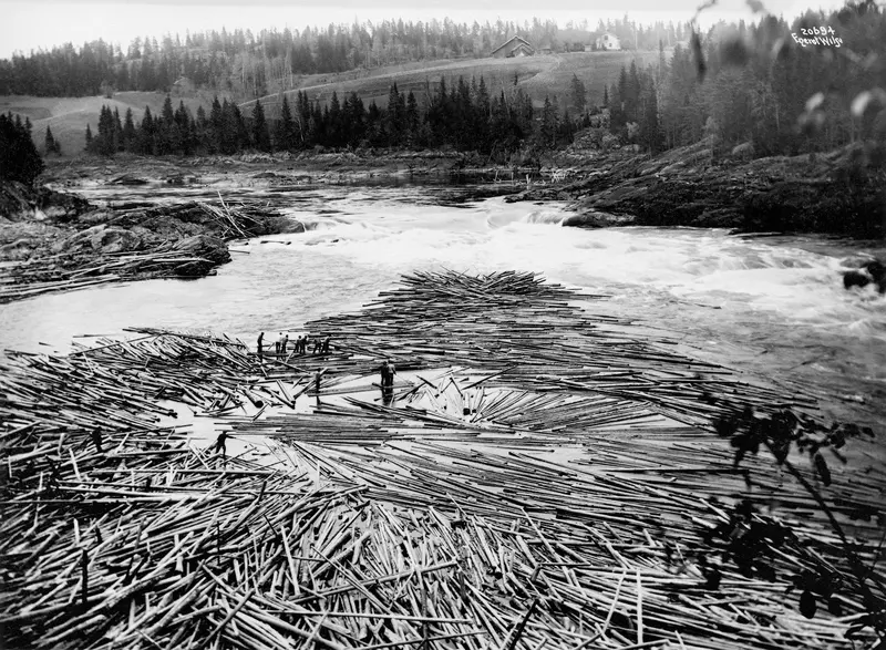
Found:
<path fill-rule="evenodd" d="M 684 24 L 638 25 L 627 16 L 599 21 L 594 33 L 610 31 L 627 49 L 655 49 L 688 38 Z M 554 21 L 533 19 L 523 24 L 381 21 L 351 25 L 206 31 L 135 39 L 124 51 L 102 40 L 75 48 L 71 43 L 48 51 L 14 54 L 0 60 L 0 94 L 83 96 L 113 91 L 169 92 L 185 78 L 196 89 L 258 97 L 293 89 L 307 74 L 346 72 L 396 63 L 451 58 L 487 56 L 505 40 L 519 35 L 536 47 L 555 51 L 588 43 L 587 23 L 560 30 Z"/>

